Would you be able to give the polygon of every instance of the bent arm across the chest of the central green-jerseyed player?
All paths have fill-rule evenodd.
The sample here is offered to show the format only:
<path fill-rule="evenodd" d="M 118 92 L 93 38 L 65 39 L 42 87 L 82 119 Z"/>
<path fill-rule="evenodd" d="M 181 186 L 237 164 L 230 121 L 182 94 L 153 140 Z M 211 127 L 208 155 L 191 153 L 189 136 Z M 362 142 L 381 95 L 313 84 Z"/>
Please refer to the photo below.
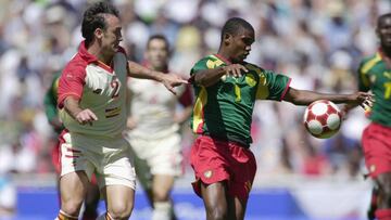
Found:
<path fill-rule="evenodd" d="M 243 65 L 230 64 L 228 66 L 200 70 L 193 75 L 193 81 L 199 86 L 210 87 L 216 83 L 224 75 L 240 77 L 242 72 L 248 72 Z"/>

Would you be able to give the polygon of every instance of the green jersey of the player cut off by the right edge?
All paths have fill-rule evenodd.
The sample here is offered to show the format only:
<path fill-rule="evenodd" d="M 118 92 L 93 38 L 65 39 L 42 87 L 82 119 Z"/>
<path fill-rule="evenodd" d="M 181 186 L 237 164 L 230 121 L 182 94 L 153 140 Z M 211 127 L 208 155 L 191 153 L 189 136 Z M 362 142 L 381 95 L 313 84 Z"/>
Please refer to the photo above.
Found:
<path fill-rule="evenodd" d="M 358 89 L 375 94 L 370 120 L 391 127 L 391 68 L 387 66 L 381 52 L 366 57 L 358 68 Z"/>

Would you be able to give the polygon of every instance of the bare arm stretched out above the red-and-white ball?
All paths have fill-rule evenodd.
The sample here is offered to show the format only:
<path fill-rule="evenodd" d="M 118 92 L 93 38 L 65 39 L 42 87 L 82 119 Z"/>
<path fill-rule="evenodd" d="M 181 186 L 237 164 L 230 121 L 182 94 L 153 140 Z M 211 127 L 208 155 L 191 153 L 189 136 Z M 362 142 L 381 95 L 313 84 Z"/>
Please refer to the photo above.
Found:
<path fill-rule="evenodd" d="M 352 106 L 361 105 L 363 107 L 371 106 L 374 96 L 367 92 L 355 92 L 353 94 L 325 94 L 307 90 L 297 90 L 289 88 L 285 101 L 291 102 L 295 105 L 308 105 L 316 100 L 329 100 L 336 104 L 346 103 Z"/>

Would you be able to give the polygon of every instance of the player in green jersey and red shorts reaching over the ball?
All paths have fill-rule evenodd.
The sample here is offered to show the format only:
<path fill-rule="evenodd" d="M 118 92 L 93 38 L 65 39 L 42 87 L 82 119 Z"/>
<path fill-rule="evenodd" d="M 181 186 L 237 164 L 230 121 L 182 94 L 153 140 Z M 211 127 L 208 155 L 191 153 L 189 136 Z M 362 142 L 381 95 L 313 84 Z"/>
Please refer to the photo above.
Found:
<path fill-rule="evenodd" d="M 238 17 L 222 30 L 217 54 L 200 60 L 191 69 L 195 92 L 191 128 L 199 134 L 191 148 L 194 192 L 202 197 L 206 219 L 244 219 L 256 164 L 249 146 L 256 100 L 307 105 L 329 100 L 351 105 L 369 104 L 371 95 L 323 94 L 291 88 L 290 78 L 244 62 L 255 40 L 254 28 Z"/>

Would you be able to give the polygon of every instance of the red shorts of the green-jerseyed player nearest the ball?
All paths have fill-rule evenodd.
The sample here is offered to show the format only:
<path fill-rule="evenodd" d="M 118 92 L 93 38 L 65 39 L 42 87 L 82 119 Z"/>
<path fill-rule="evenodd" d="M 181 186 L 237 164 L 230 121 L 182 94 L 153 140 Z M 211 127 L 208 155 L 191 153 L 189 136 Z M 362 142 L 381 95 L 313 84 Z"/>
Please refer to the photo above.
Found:
<path fill-rule="evenodd" d="M 191 147 L 190 163 L 197 179 L 192 185 L 200 197 L 201 182 L 227 181 L 228 195 L 248 199 L 256 171 L 255 157 L 250 150 L 200 135 Z"/>

